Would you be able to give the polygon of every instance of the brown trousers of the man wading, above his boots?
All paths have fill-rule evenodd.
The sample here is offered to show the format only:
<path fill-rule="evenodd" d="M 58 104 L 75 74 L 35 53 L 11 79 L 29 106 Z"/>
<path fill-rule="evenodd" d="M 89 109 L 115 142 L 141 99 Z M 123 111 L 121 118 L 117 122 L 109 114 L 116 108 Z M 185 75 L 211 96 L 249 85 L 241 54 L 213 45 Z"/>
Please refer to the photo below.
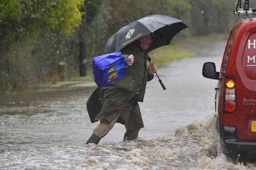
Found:
<path fill-rule="evenodd" d="M 117 119 L 120 117 L 124 121 L 124 126 L 126 128 L 126 133 L 129 133 L 130 135 L 133 136 L 130 139 L 136 138 L 138 136 L 138 133 L 139 133 L 140 129 L 134 130 L 134 131 L 129 131 L 129 128 L 128 128 L 129 117 L 130 117 L 130 114 L 131 114 L 133 109 L 134 109 L 134 105 L 130 101 L 129 103 L 127 103 L 125 105 L 124 109 L 118 114 L 118 116 L 112 122 L 110 122 L 109 124 L 100 122 L 100 124 L 93 130 L 93 133 L 96 136 L 98 136 L 100 138 L 103 138 L 114 127 Z"/>

